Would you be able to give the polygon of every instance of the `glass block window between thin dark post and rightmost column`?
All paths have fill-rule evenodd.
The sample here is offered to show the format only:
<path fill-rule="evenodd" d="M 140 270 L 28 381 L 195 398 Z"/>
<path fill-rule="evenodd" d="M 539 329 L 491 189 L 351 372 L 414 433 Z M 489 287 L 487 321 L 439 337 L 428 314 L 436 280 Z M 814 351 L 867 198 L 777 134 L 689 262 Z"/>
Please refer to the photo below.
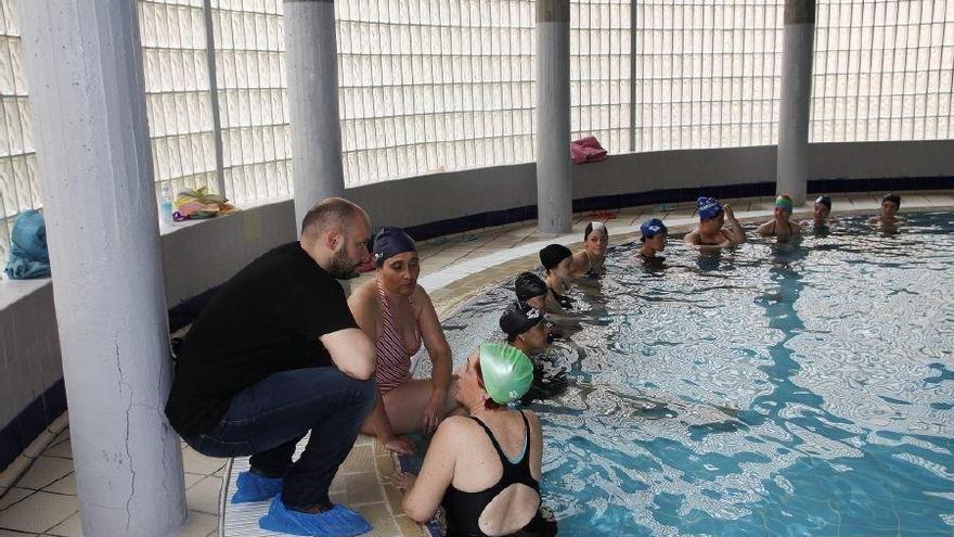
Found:
<path fill-rule="evenodd" d="M 634 150 L 777 143 L 784 2 L 636 4 Z"/>

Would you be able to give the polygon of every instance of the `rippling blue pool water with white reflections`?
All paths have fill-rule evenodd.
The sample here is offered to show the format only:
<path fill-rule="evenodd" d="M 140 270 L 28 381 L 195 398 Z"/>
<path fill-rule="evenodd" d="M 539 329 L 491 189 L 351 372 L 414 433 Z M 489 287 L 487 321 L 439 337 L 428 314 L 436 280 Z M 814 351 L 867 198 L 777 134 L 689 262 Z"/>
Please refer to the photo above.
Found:
<path fill-rule="evenodd" d="M 543 355 L 569 387 L 530 405 L 560 534 L 954 535 L 952 231 L 611 248 Z M 512 296 L 444 323 L 456 361 Z"/>

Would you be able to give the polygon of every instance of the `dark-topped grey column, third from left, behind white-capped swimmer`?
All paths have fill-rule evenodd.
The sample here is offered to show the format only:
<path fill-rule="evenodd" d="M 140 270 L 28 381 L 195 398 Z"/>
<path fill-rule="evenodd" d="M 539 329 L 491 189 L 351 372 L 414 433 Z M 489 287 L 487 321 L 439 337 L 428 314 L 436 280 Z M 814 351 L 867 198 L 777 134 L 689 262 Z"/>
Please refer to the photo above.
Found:
<path fill-rule="evenodd" d="M 569 0 L 537 0 L 537 210 L 541 232 L 570 231 Z"/>

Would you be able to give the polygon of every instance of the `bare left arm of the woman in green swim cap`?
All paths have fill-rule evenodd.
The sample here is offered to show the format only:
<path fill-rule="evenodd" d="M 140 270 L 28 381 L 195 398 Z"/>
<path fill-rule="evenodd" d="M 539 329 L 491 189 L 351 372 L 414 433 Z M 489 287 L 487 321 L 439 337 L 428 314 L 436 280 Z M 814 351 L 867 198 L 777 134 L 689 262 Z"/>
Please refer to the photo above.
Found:
<path fill-rule="evenodd" d="M 421 465 L 421 474 L 410 490 L 404 493 L 401 507 L 411 520 L 426 524 L 437 512 L 447 488 L 454 478 L 456 446 L 454 437 L 461 433 L 459 420 L 449 418 L 441 422 L 430 440 L 427 455 Z"/>

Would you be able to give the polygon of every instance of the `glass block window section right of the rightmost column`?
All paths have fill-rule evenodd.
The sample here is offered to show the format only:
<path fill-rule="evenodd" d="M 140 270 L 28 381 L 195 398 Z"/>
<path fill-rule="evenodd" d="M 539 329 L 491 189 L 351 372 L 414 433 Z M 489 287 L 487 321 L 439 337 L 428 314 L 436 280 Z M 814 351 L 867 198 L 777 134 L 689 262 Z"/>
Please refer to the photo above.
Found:
<path fill-rule="evenodd" d="M 954 137 L 954 2 L 817 5 L 812 142 Z"/>

